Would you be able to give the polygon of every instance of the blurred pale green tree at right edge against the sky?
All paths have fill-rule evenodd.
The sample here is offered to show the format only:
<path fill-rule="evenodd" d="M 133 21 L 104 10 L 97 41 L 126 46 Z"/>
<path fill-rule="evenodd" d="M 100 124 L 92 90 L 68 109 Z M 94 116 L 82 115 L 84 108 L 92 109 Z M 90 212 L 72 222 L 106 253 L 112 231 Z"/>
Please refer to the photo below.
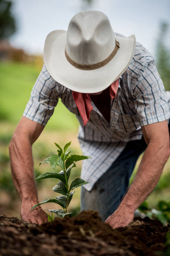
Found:
<path fill-rule="evenodd" d="M 170 91 L 170 48 L 167 46 L 168 24 L 160 23 L 160 32 L 156 45 L 156 64 L 160 77 L 163 79 L 165 90 Z"/>

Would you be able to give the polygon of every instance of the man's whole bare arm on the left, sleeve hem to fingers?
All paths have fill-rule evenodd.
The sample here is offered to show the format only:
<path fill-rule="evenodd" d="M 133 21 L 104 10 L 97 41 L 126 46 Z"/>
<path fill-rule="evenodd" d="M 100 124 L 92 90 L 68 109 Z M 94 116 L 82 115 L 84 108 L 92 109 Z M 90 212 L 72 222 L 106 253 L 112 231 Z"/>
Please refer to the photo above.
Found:
<path fill-rule="evenodd" d="M 21 218 L 36 224 L 48 221 L 46 213 L 40 206 L 30 211 L 32 206 L 39 202 L 34 182 L 32 144 L 43 129 L 43 125 L 22 117 L 9 146 L 11 174 L 22 201 Z"/>

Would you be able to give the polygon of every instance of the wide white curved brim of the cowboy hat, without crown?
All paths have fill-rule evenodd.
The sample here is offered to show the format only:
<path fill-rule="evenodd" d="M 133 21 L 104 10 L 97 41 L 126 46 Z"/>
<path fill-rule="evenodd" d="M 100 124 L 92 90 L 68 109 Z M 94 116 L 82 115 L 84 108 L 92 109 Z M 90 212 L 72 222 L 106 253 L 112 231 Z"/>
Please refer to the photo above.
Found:
<path fill-rule="evenodd" d="M 135 49 L 135 36 L 115 36 L 120 48 L 104 67 L 81 70 L 72 66 L 65 57 L 67 31 L 55 30 L 47 35 L 44 46 L 44 63 L 55 81 L 82 93 L 105 90 L 128 68 Z"/>

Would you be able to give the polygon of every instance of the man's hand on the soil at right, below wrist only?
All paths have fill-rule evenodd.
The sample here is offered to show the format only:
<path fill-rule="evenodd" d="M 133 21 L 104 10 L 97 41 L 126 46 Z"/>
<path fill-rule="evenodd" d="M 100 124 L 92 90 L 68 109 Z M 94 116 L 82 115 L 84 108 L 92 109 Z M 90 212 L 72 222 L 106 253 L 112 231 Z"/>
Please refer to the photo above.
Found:
<path fill-rule="evenodd" d="M 109 224 L 113 229 L 128 226 L 134 218 L 134 210 L 131 210 L 126 205 L 119 205 L 117 210 L 110 215 L 105 223 Z"/>

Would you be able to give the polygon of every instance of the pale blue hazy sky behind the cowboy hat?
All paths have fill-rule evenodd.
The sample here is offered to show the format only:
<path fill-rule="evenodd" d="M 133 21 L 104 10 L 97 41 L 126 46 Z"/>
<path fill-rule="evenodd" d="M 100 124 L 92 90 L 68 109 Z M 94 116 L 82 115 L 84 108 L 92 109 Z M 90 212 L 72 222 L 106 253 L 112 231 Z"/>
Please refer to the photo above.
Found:
<path fill-rule="evenodd" d="M 125 36 L 135 34 L 136 40 L 155 56 L 159 24 L 170 25 L 170 0 L 13 0 L 13 13 L 18 31 L 11 44 L 31 54 L 42 54 L 48 33 L 67 30 L 73 15 L 82 10 L 100 10 L 107 15 L 113 31 Z M 170 30 L 170 29 L 169 29 Z M 170 46 L 170 31 L 167 37 Z"/>

